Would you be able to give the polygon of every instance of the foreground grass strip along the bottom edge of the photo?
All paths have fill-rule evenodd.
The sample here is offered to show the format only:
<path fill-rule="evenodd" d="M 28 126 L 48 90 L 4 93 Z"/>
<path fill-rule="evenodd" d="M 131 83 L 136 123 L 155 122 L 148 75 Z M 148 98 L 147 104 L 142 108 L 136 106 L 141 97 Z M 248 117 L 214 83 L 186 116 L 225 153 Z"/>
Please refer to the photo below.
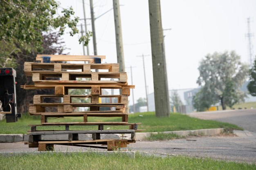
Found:
<path fill-rule="evenodd" d="M 0 156 L 2 170 L 255 170 L 254 164 L 216 161 L 210 158 L 155 157 L 136 153 L 135 159 L 118 153 L 45 153 Z"/>

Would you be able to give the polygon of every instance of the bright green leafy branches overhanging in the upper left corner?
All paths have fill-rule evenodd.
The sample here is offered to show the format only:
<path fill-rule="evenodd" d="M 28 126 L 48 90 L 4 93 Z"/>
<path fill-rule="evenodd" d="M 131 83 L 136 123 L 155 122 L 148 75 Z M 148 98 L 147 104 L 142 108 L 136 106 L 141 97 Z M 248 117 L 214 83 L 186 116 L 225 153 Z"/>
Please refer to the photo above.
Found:
<path fill-rule="evenodd" d="M 15 62 L 13 53 L 22 51 L 43 51 L 43 35 L 58 30 L 63 35 L 69 28 L 70 35 L 79 33 L 72 7 L 62 8 L 55 0 L 1 0 L 0 1 L 0 64 Z M 79 38 L 79 42 L 88 44 L 91 33 Z M 5 56 L 5 57 L 4 57 Z M 6 57 L 7 56 L 7 57 Z"/>

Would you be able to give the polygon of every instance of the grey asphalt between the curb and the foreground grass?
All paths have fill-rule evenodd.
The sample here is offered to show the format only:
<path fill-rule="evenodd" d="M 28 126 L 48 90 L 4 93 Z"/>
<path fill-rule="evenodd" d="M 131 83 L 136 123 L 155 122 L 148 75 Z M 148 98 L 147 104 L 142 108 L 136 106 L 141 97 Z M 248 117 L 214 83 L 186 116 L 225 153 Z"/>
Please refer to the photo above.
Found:
<path fill-rule="evenodd" d="M 159 153 L 159 155 L 163 153 L 256 163 L 256 141 L 250 140 L 248 137 L 188 137 L 170 141 L 137 141 L 128 147 L 128 150 Z M 60 145 L 55 145 L 54 148 L 57 151 L 88 150 L 88 148 Z M 37 148 L 28 148 L 28 145 L 22 142 L 0 143 L 0 152 L 34 152 L 36 150 Z"/>

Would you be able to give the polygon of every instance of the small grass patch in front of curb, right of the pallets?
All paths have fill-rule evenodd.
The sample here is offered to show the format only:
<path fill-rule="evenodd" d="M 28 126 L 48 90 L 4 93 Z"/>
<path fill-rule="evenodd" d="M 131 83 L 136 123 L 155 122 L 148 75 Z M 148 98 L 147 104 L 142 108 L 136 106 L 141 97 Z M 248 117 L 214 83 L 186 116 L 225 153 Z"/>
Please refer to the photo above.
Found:
<path fill-rule="evenodd" d="M 184 138 L 184 137 L 177 135 L 175 133 L 157 132 L 157 134 L 151 133 L 150 137 L 146 137 L 145 140 L 147 140 L 147 141 L 165 141 L 165 140 L 181 139 L 181 138 Z"/>

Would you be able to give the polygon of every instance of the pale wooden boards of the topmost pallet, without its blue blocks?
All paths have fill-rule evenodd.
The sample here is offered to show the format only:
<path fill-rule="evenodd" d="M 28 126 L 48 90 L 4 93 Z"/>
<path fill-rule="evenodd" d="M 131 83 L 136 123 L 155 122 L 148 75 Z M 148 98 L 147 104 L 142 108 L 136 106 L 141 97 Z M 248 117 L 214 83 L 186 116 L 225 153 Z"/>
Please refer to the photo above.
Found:
<path fill-rule="evenodd" d="M 105 59 L 105 55 L 36 55 L 36 61 L 43 62 L 42 57 L 51 57 L 51 62 L 67 62 L 67 61 L 88 61 L 94 63 L 94 58 Z"/>

